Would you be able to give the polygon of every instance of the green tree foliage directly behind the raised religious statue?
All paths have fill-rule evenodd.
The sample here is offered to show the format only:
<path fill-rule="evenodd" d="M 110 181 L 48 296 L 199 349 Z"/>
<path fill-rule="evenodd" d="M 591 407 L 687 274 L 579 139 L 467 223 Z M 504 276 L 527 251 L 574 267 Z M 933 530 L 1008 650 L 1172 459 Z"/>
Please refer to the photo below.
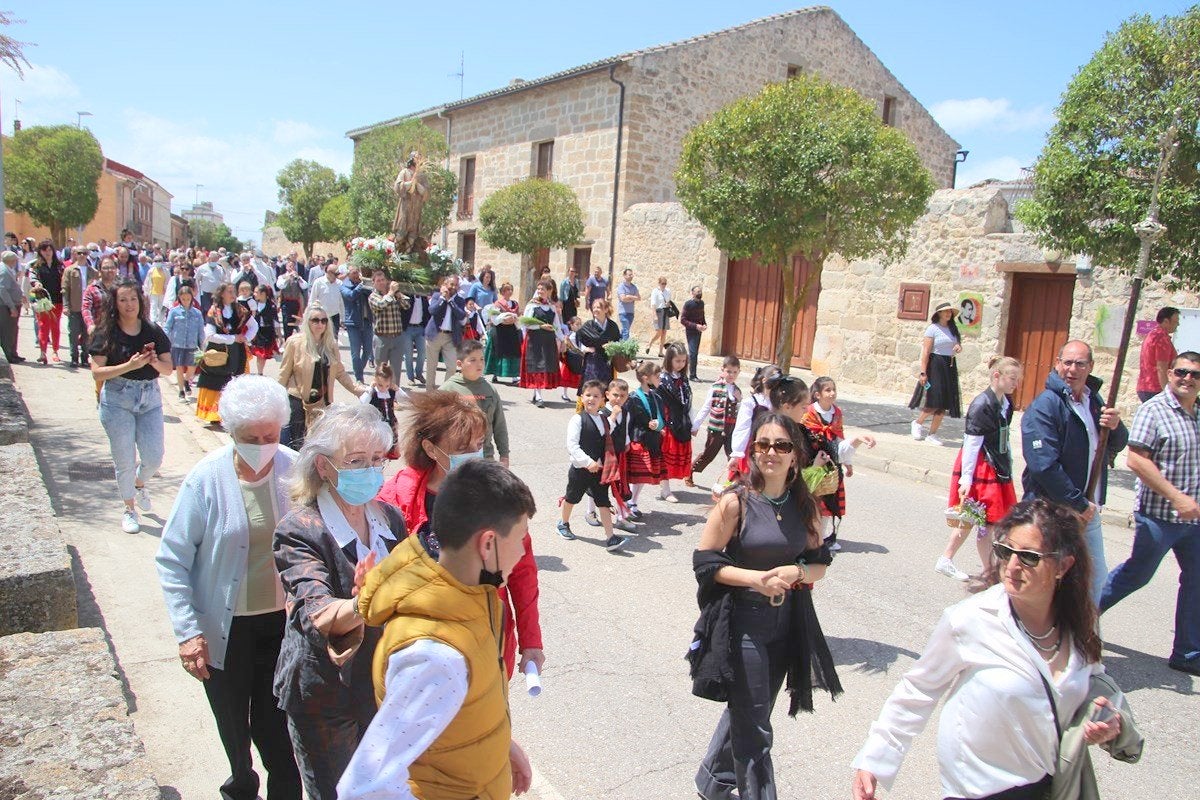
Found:
<path fill-rule="evenodd" d="M 449 152 L 445 137 L 420 120 L 409 119 L 371 131 L 354 143 L 350 209 L 364 235 L 383 236 L 392 233 L 391 223 L 396 216 L 396 191 L 392 185 L 410 152 L 419 152 L 425 157 L 426 175 L 430 179 L 430 198 L 421 211 L 421 227 L 425 231 L 432 231 L 442 227 L 450 216 L 457 180 L 454 173 L 433 167 Z M 426 223 L 430 223 L 428 227 Z"/>

